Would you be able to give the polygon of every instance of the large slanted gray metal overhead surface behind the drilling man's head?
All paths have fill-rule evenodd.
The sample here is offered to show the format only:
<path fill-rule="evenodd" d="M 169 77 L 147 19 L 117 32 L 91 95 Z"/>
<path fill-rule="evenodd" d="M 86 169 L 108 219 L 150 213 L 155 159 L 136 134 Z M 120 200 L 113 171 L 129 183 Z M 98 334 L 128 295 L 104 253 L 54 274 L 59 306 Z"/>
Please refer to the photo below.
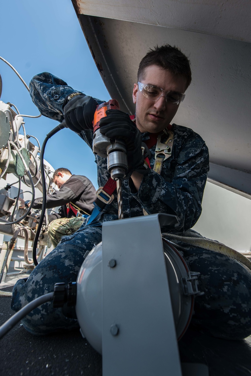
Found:
<path fill-rule="evenodd" d="M 73 3 L 76 2 L 73 0 Z M 169 5 L 171 2 L 164 3 Z M 184 4 L 181 1 L 173 3 Z M 234 9 L 234 3 L 227 3 L 228 6 L 233 5 L 232 9 L 228 8 L 229 15 Z M 84 5 L 87 7 L 88 4 L 90 3 L 80 2 L 80 11 L 84 11 Z M 125 4 L 128 5 L 128 1 Z M 136 1 L 133 17 L 134 20 L 138 17 L 138 22 L 78 14 L 92 56 L 111 97 L 119 100 L 121 109 L 133 113 L 132 88 L 133 83 L 137 82 L 139 61 L 156 44 L 169 43 L 180 47 L 190 56 L 192 83 L 173 122 L 192 128 L 206 141 L 210 152 L 209 177 L 251 194 L 251 43 L 180 30 L 181 27 L 178 29 L 153 26 L 150 22 L 140 23 L 144 20 L 137 8 L 139 4 L 144 4 L 146 12 L 150 11 L 146 1 Z M 154 2 L 154 7 L 156 4 L 158 2 Z M 242 1 L 238 4 L 246 4 L 248 13 L 251 2 L 248 2 L 249 7 Z M 103 5 L 105 4 L 100 3 L 101 8 Z M 122 12 L 120 18 L 132 16 L 131 11 L 126 12 L 127 8 L 120 7 L 117 1 L 106 5 L 110 6 L 110 17 L 115 17 L 114 12 L 118 15 L 119 9 Z M 195 5 L 195 2 L 187 2 L 187 6 Z M 207 4 L 206 1 L 201 1 L 197 6 L 198 12 L 201 6 L 215 6 L 216 9 L 219 2 L 211 1 Z M 79 12 L 76 4 L 75 9 Z M 238 23 L 238 12 L 236 11 L 235 22 L 232 22 L 233 26 Z M 117 15 L 115 18 L 119 18 Z M 220 15 L 218 12 L 219 17 Z M 250 24 L 249 22 L 243 30 L 248 32 Z M 210 27 L 213 28 L 212 24 Z M 210 31 L 213 33 L 213 30 Z M 227 33 L 225 36 L 229 37 Z M 238 39 L 237 34 L 234 37 Z"/>

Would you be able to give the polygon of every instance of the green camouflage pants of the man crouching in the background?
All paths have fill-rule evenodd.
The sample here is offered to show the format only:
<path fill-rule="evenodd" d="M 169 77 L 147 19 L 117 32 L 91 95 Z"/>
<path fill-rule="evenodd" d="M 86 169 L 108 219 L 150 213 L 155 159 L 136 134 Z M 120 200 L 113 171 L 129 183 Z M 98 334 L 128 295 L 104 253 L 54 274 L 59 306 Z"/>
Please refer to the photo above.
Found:
<path fill-rule="evenodd" d="M 59 218 L 51 221 L 48 226 L 48 237 L 55 248 L 64 235 L 71 235 L 85 223 L 86 218 Z"/>

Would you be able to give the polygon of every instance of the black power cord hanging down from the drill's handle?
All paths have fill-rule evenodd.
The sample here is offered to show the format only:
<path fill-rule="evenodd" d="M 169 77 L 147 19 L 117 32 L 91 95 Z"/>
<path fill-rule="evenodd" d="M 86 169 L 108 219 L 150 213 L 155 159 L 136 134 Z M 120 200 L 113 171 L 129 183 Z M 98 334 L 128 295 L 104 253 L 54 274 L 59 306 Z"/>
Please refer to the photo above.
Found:
<path fill-rule="evenodd" d="M 46 182 L 45 182 L 45 174 L 44 174 L 44 149 L 47 144 L 47 141 L 49 138 L 54 136 L 57 132 L 59 132 L 60 129 L 65 128 L 66 124 L 65 121 L 57 125 L 53 130 L 51 130 L 48 135 L 45 137 L 44 142 L 42 144 L 41 152 L 40 152 L 40 173 L 41 173 L 41 180 L 42 180 L 42 190 L 43 190 L 43 201 L 42 201 L 42 209 L 41 209 L 41 215 L 38 222 L 38 227 L 36 229 L 36 235 L 33 241 L 33 248 L 32 248 L 32 259 L 34 262 L 34 265 L 38 265 L 38 261 L 36 259 L 36 248 L 38 245 L 38 238 L 41 231 L 42 223 L 44 220 L 44 214 L 45 214 L 45 208 L 46 208 Z"/>

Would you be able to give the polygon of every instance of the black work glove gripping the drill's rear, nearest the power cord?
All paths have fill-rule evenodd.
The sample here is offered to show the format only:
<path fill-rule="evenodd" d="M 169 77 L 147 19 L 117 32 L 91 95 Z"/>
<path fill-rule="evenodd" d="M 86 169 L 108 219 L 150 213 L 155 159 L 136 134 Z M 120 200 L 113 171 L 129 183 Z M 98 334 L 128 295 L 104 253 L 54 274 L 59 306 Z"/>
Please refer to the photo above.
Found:
<path fill-rule="evenodd" d="M 65 123 L 74 132 L 93 129 L 92 121 L 98 103 L 92 97 L 79 95 L 64 106 Z"/>

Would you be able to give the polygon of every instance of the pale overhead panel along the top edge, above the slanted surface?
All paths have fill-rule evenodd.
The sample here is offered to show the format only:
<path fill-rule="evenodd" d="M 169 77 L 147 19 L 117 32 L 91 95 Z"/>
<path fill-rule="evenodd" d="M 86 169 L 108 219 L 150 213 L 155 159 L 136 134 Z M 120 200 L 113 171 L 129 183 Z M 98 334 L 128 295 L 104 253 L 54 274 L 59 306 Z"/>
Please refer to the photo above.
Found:
<path fill-rule="evenodd" d="M 250 0 L 74 0 L 77 14 L 251 42 Z"/>

